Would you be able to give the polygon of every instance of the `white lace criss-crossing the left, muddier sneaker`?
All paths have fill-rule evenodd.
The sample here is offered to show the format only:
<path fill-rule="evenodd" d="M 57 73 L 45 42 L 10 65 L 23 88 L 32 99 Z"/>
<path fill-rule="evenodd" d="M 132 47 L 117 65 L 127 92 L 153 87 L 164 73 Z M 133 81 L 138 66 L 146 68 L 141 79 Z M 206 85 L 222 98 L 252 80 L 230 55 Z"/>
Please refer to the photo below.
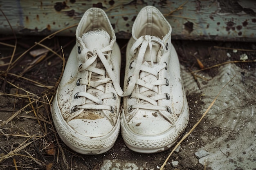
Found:
<path fill-rule="evenodd" d="M 106 77 L 106 75 L 114 74 L 112 71 L 113 65 L 109 64 L 110 54 L 113 49 L 113 44 L 110 44 L 103 49 L 94 49 L 93 51 L 89 51 L 89 49 L 84 49 L 81 54 L 79 55 L 79 60 L 83 62 L 79 66 L 79 71 L 88 71 L 88 79 L 80 78 L 77 82 L 77 86 L 81 84 L 87 85 L 86 91 L 89 88 L 95 88 L 99 91 L 103 91 L 102 95 L 95 97 L 94 95 L 88 92 L 79 92 L 75 94 L 75 97 L 85 97 L 86 101 L 85 104 L 75 106 L 76 109 L 93 109 L 93 110 L 110 110 L 110 112 L 114 112 L 113 106 L 104 105 L 103 99 L 113 98 L 116 99 L 116 95 L 114 93 L 104 93 L 105 84 L 112 83 L 111 77 Z M 85 60 L 88 58 L 87 60 Z M 100 61 L 98 61 L 100 60 Z M 104 66 L 104 68 L 101 68 Z M 93 79 L 99 79 L 97 81 L 93 81 Z M 112 77 L 113 78 L 113 77 Z M 115 81 L 117 81 L 116 77 Z M 78 115 L 80 113 L 77 113 Z M 77 115 L 73 115 L 72 117 L 76 117 Z M 108 115 L 106 115 L 109 117 Z M 72 119 L 70 117 L 70 119 Z"/>

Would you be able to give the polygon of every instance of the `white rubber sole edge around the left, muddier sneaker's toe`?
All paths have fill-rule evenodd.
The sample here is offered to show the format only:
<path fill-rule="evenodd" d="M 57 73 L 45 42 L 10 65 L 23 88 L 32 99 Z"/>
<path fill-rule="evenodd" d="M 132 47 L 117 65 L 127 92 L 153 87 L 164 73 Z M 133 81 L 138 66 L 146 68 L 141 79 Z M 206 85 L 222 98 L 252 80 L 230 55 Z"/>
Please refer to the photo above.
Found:
<path fill-rule="evenodd" d="M 57 93 L 58 91 L 56 94 Z M 63 142 L 72 150 L 85 155 L 97 155 L 110 150 L 114 146 L 120 131 L 119 114 L 116 125 L 108 133 L 108 135 L 101 137 L 87 137 L 78 134 L 63 119 L 61 110 L 58 107 L 57 97 L 54 98 L 52 103 L 52 118 L 56 131 L 58 132 L 58 135 L 61 137 Z"/>

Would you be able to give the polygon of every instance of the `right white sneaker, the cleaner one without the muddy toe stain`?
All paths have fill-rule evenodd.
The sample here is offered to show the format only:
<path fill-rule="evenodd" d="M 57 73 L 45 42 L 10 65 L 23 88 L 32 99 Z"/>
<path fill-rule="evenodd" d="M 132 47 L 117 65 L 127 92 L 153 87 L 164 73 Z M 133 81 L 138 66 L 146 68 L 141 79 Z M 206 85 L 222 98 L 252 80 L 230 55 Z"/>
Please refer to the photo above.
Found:
<path fill-rule="evenodd" d="M 155 7 L 141 9 L 126 51 L 122 137 L 143 153 L 170 148 L 189 120 L 171 26 Z"/>

